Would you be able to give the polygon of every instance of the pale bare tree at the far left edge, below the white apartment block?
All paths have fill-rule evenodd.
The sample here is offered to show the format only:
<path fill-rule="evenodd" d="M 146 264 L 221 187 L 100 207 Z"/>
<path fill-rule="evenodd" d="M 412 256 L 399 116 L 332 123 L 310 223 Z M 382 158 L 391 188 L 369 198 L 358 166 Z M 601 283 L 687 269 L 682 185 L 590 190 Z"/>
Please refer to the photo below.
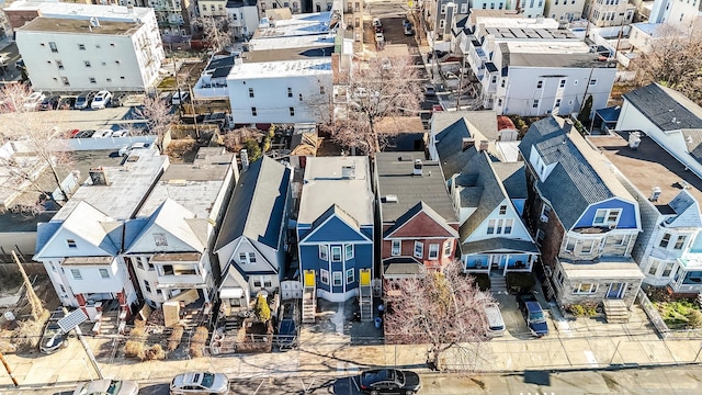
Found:
<path fill-rule="evenodd" d="M 39 199 L 22 202 L 35 207 L 34 214 L 42 212 L 43 200 L 60 201 L 68 199 L 63 180 L 68 172 L 61 169 L 70 165 L 70 155 L 61 140 L 63 125 L 60 112 L 53 116 L 38 116 L 36 102 L 29 101 L 31 90 L 24 84 L 5 84 L 0 90 L 0 114 L 2 114 L 2 135 L 4 146 L 0 153 L 0 166 L 8 176 L 0 190 L 16 196 L 27 190 L 34 190 Z M 47 189 L 50 188 L 49 191 Z M 53 191 L 58 189 L 63 196 L 56 199 Z"/>

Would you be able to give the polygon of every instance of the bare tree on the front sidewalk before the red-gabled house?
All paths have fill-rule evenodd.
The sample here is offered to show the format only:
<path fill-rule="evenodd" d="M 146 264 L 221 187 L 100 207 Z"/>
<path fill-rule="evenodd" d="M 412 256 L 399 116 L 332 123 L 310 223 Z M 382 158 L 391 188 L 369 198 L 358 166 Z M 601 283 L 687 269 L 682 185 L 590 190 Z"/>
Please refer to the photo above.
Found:
<path fill-rule="evenodd" d="M 395 343 L 426 343 L 427 362 L 435 369 L 475 370 L 487 356 L 480 350 L 486 324 L 483 307 L 492 296 L 453 262 L 427 270 L 416 279 L 386 281 L 385 339 Z M 442 358 L 452 353 L 452 365 Z"/>

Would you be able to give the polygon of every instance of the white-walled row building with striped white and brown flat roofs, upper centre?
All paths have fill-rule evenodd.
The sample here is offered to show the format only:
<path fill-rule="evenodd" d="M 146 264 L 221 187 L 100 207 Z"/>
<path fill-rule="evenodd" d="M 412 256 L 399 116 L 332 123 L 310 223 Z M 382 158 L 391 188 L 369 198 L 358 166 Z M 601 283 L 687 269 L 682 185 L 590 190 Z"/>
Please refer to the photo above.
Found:
<path fill-rule="evenodd" d="M 227 76 L 236 124 L 306 123 L 327 115 L 335 52 L 331 12 L 268 21 Z"/>

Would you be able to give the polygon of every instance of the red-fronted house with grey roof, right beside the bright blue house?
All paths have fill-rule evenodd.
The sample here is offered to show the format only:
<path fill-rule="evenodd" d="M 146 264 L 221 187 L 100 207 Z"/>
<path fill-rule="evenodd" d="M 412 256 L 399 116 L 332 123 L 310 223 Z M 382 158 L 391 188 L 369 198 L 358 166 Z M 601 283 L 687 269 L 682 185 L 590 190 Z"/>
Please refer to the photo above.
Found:
<path fill-rule="evenodd" d="M 458 218 L 437 161 L 423 151 L 375 156 L 384 280 L 441 268 L 455 259 Z"/>

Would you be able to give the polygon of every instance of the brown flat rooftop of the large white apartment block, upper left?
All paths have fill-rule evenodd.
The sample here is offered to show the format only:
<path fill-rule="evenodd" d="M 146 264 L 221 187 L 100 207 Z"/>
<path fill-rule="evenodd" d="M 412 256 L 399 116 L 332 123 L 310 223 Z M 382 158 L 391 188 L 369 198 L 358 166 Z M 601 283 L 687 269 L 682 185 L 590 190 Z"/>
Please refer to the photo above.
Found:
<path fill-rule="evenodd" d="M 87 35 L 131 35 L 141 24 L 137 22 L 100 22 L 100 27 L 92 27 L 89 20 L 63 18 L 35 18 L 32 22 L 18 29 L 22 32 L 77 33 Z"/>

